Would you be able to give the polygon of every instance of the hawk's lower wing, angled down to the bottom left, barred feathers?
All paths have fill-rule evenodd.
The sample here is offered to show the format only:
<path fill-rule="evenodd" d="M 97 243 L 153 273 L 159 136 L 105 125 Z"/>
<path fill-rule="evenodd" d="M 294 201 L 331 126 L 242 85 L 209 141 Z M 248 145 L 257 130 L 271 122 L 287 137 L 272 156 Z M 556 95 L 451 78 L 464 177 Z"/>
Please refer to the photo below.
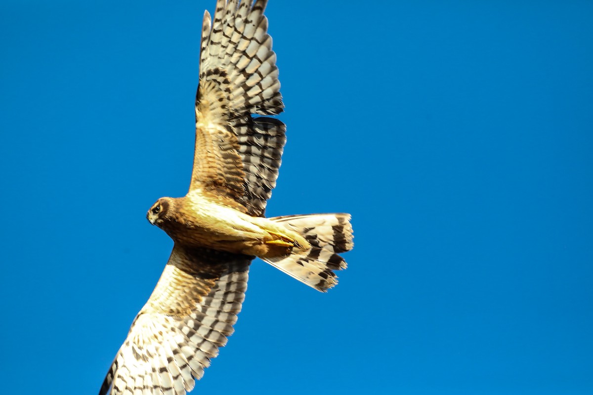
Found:
<path fill-rule="evenodd" d="M 175 246 L 99 394 L 191 391 L 233 332 L 251 259 Z"/>

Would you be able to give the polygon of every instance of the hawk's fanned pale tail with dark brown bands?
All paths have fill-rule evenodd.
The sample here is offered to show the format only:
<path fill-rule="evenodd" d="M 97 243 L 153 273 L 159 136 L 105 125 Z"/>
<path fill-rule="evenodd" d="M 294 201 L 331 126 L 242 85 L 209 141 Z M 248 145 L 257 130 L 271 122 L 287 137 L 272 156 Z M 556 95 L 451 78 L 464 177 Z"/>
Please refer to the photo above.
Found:
<path fill-rule="evenodd" d="M 337 284 L 334 271 L 346 268 L 346 261 L 339 254 L 354 246 L 350 214 L 308 214 L 270 220 L 297 232 L 311 248 L 294 249 L 288 256 L 264 261 L 318 291 L 326 292 Z"/>

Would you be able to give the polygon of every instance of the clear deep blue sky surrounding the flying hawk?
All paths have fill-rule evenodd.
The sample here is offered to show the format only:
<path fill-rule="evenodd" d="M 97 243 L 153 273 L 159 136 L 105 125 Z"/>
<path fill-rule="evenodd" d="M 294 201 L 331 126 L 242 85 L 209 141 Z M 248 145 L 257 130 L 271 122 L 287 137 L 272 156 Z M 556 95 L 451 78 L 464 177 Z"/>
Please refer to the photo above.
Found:
<path fill-rule="evenodd" d="M 0 392 L 97 393 L 171 251 L 145 213 L 189 185 L 214 5 L 0 2 Z M 193 393 L 593 393 L 593 2 L 267 16 L 267 214 L 347 211 L 356 245 L 327 294 L 254 261 Z"/>

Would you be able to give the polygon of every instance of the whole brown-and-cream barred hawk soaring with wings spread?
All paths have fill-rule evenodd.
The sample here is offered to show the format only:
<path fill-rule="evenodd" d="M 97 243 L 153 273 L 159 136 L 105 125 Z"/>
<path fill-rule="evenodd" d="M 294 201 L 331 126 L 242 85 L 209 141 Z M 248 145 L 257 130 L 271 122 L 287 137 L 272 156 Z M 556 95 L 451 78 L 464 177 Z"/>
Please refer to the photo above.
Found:
<path fill-rule="evenodd" d="M 160 280 L 101 386 L 104 394 L 185 394 L 227 343 L 255 257 L 327 291 L 352 249 L 349 214 L 264 217 L 285 125 L 267 0 L 218 0 L 202 24 L 189 192 L 146 217 L 174 240 Z"/>

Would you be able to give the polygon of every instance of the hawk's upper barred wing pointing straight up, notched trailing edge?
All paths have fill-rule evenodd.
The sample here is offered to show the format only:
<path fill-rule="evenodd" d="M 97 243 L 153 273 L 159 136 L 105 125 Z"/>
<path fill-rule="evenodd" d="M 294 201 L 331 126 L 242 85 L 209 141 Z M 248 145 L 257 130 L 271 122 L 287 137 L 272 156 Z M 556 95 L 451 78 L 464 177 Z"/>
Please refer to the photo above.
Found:
<path fill-rule="evenodd" d="M 204 14 L 190 184 L 252 216 L 263 216 L 286 142 L 282 122 L 251 116 L 284 108 L 266 3 L 218 0 L 212 25 Z"/>

